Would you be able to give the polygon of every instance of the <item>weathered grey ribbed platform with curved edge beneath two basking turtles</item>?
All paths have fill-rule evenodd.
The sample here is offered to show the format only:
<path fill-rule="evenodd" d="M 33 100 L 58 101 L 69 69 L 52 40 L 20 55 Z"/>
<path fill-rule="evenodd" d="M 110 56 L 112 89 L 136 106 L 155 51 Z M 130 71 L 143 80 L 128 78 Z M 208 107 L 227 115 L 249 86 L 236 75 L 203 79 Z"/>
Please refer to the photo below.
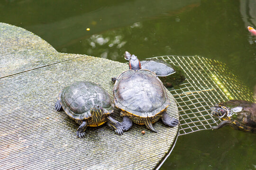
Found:
<path fill-rule="evenodd" d="M 0 169 L 151 170 L 172 148 L 178 127 L 154 124 L 158 133 L 134 125 L 124 135 L 110 127 L 89 127 L 84 139 L 63 111 L 54 110 L 59 91 L 74 81 L 102 85 L 113 97 L 110 77 L 123 63 L 59 53 L 37 35 L 0 23 Z M 169 93 L 168 114 L 178 119 Z M 119 110 L 113 117 L 121 120 Z M 146 134 L 142 135 L 141 131 Z"/>

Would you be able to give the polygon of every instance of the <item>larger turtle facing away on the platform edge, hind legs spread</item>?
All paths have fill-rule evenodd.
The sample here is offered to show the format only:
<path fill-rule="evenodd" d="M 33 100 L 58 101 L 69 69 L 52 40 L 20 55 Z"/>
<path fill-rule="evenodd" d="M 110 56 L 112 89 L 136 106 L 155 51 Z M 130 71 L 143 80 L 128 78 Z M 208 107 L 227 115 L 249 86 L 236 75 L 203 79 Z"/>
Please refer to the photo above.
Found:
<path fill-rule="evenodd" d="M 135 55 L 126 51 L 125 57 L 129 58 L 129 69 L 112 78 L 114 103 L 121 110 L 123 130 L 131 128 L 134 122 L 157 132 L 152 123 L 160 118 L 169 127 L 178 125 L 179 121 L 166 112 L 170 101 L 161 80 L 154 72 L 141 69 Z"/>

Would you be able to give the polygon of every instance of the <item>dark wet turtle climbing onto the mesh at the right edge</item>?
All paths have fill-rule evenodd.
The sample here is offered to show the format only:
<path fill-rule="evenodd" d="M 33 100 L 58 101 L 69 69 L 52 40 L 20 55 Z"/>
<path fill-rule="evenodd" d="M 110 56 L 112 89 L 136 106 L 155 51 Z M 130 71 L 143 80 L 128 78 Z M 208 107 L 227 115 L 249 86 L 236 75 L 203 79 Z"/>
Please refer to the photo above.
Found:
<path fill-rule="evenodd" d="M 211 108 L 211 115 L 223 119 L 212 129 L 231 126 L 234 129 L 256 133 L 256 103 L 242 100 L 220 102 Z"/>

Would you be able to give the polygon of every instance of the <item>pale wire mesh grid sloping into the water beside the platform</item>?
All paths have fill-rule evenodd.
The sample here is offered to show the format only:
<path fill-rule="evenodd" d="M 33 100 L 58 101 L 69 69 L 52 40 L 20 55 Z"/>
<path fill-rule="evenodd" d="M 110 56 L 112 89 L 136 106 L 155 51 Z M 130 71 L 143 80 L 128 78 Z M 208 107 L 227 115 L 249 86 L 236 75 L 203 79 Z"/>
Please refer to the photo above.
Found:
<path fill-rule="evenodd" d="M 179 135 L 211 129 L 220 121 L 210 115 L 215 103 L 232 99 L 253 101 L 253 93 L 223 63 L 200 56 L 161 56 L 183 69 L 186 80 L 169 89 L 179 110 Z"/>

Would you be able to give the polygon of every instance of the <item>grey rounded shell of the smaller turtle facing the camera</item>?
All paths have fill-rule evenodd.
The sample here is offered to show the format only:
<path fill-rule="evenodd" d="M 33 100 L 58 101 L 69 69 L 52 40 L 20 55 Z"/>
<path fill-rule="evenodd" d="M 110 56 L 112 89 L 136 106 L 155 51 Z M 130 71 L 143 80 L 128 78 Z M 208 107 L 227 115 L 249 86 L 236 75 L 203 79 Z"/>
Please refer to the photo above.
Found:
<path fill-rule="evenodd" d="M 100 85 L 89 81 L 77 81 L 59 93 L 61 106 L 68 116 L 83 120 L 91 118 L 91 107 L 100 106 L 113 111 L 109 93 Z M 110 114 L 105 113 L 105 114 Z"/>

